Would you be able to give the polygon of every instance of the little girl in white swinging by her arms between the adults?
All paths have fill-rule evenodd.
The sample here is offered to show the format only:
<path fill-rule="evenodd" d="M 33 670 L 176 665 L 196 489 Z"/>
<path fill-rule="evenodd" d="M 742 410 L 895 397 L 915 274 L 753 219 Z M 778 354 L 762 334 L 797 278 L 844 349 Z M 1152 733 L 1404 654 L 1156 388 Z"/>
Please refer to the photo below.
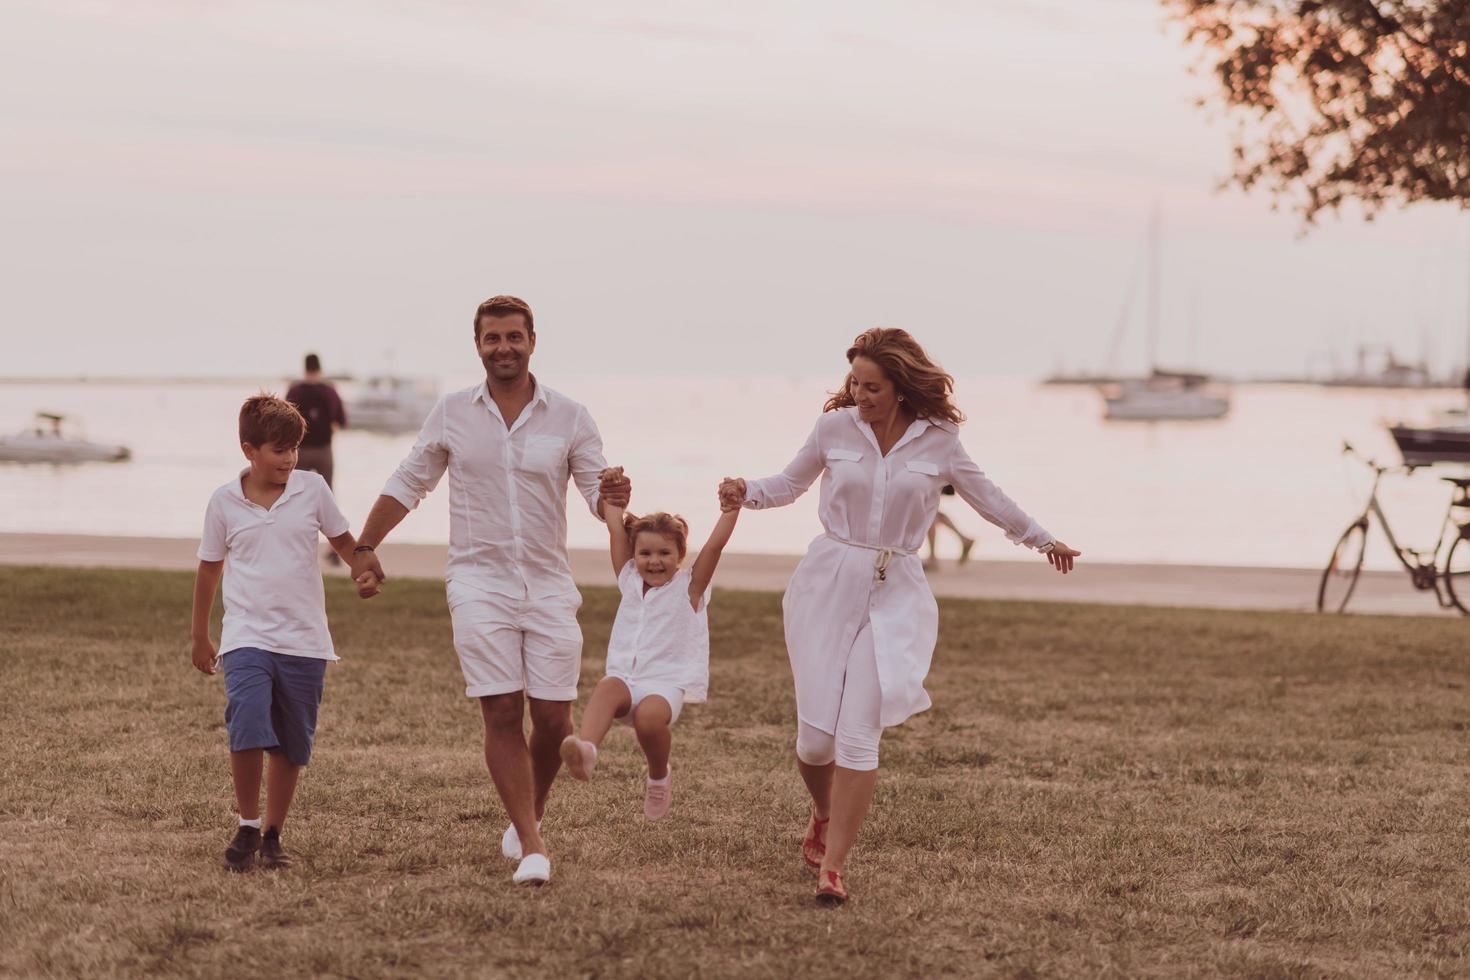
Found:
<path fill-rule="evenodd" d="M 739 507 L 722 504 L 692 569 L 682 567 L 689 536 L 682 517 L 632 517 L 613 505 L 604 516 L 623 598 L 607 642 L 607 676 L 582 713 L 582 736 L 562 742 L 562 761 L 576 779 L 591 777 L 613 720 L 632 724 L 648 760 L 644 815 L 659 820 L 673 799 L 669 727 L 685 701 L 704 701 L 710 685 L 710 580 Z"/>

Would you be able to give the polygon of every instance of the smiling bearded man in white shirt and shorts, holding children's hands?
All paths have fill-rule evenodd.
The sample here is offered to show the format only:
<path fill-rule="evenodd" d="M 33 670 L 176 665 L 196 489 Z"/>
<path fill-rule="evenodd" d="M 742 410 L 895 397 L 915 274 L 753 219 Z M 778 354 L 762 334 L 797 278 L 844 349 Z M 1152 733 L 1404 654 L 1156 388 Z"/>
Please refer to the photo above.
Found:
<path fill-rule="evenodd" d="M 535 319 L 523 300 L 497 295 L 475 310 L 475 350 L 485 382 L 440 398 L 419 441 L 388 479 L 359 536 L 353 577 L 368 597 L 384 579 L 373 548 L 450 475 L 447 592 L 465 693 L 485 721 L 485 764 L 510 827 L 513 880 L 544 884 L 541 840 L 562 739 L 582 663 L 582 597 L 566 554 L 566 483 L 595 517 L 603 500 L 625 507 L 631 485 L 607 469 L 587 408 L 531 373 Z M 531 741 L 522 735 L 531 702 Z"/>

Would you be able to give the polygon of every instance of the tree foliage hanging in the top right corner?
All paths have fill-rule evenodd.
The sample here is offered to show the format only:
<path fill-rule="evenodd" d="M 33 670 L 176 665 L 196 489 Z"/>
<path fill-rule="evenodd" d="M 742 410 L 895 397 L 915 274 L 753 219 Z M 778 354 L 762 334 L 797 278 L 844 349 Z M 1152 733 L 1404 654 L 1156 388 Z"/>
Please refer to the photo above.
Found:
<path fill-rule="evenodd" d="M 1163 0 L 1239 120 L 1235 173 L 1308 222 L 1470 207 L 1470 1 Z"/>

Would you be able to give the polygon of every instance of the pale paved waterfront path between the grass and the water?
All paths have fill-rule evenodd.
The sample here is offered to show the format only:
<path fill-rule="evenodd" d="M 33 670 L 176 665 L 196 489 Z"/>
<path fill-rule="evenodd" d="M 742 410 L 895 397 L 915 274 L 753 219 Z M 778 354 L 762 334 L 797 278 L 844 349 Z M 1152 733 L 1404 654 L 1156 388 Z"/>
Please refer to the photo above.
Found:
<path fill-rule="evenodd" d="M 123 569 L 194 569 L 197 541 L 188 538 L 103 538 L 90 535 L 0 533 L 0 563 L 60 564 Z M 381 548 L 388 574 L 438 579 L 444 574 L 444 545 L 388 542 Z M 726 554 L 719 585 L 728 589 L 781 591 L 797 564 L 795 555 Z M 579 585 L 612 585 L 604 551 L 572 551 L 572 574 Z M 1057 602 L 1123 602 L 1138 605 L 1198 605 L 1214 608 L 1308 611 L 1317 597 L 1316 570 L 1241 569 L 1227 566 L 1157 566 L 1082 563 L 1067 576 L 1033 561 L 945 561 L 929 574 L 936 595 Z M 1448 616 L 1432 595 L 1416 592 L 1398 572 L 1364 572 L 1352 598 L 1360 613 Z"/>

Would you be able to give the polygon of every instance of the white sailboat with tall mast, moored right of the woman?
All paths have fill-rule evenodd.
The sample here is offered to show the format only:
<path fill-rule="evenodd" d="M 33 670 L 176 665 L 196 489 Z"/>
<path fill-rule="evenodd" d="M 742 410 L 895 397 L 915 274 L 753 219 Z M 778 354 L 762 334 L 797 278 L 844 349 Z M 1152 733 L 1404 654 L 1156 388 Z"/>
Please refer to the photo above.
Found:
<path fill-rule="evenodd" d="M 1148 222 L 1148 364 L 1144 378 L 1125 378 L 1100 385 L 1104 417 L 1119 422 L 1198 422 L 1220 419 L 1230 411 L 1229 391 L 1208 375 L 1158 367 L 1158 207 Z M 1114 341 L 1114 348 L 1116 348 Z"/>

